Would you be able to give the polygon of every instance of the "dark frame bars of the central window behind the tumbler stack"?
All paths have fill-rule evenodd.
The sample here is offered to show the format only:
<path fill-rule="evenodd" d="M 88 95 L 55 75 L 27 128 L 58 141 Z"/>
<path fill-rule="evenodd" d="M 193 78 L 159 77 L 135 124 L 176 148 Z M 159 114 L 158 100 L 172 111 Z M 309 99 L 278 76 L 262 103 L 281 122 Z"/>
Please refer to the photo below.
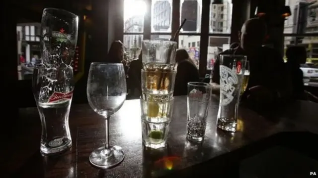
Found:
<path fill-rule="evenodd" d="M 180 26 L 180 18 L 181 18 L 181 0 L 168 0 L 171 3 L 171 32 L 151 32 L 151 19 L 152 19 L 152 0 L 145 0 L 147 5 L 147 12 L 144 16 L 144 27 L 143 32 L 124 32 L 125 35 L 143 35 L 143 39 L 151 39 L 153 35 L 170 35 L 172 36 Z M 179 33 L 179 36 L 187 35 L 187 36 L 200 36 L 200 55 L 199 55 L 199 73 L 201 77 L 204 77 L 207 73 L 210 73 L 211 70 L 207 69 L 207 58 L 208 58 L 208 46 L 209 46 L 209 37 L 228 37 L 229 42 L 231 42 L 231 33 L 210 33 L 210 7 L 212 0 L 202 0 L 201 4 L 201 30 L 198 33 L 187 33 L 182 32 Z M 233 4 L 233 2 L 232 2 Z M 232 6 L 234 8 L 234 5 Z M 233 17 L 233 9 L 232 9 L 232 17 Z M 124 23 L 124 20 L 122 20 Z M 232 29 L 232 27 L 230 27 Z M 231 30 L 232 31 L 232 30 Z M 176 42 L 179 42 L 177 37 Z M 197 42 L 196 42 L 197 43 Z M 204 46 L 204 47 L 202 47 Z"/>

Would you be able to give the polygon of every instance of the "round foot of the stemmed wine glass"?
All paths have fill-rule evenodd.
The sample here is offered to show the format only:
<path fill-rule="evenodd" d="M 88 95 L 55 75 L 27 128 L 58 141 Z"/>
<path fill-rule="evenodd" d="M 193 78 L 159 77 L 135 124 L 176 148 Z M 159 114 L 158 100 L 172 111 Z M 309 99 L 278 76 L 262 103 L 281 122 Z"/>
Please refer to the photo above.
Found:
<path fill-rule="evenodd" d="M 98 169 L 108 169 L 119 165 L 125 158 L 120 146 L 110 146 L 109 149 L 100 147 L 89 155 L 89 162 Z"/>

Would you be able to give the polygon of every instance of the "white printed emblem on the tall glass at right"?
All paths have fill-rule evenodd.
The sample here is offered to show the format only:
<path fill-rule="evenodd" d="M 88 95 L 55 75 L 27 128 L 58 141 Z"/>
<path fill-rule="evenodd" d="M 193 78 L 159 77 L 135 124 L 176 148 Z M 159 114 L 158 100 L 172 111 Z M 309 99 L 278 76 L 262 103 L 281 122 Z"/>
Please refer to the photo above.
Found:
<path fill-rule="evenodd" d="M 235 91 L 235 85 L 238 84 L 238 76 L 227 66 L 220 65 L 220 86 L 223 99 L 220 102 L 221 106 L 226 106 L 234 99 L 233 93 Z"/>

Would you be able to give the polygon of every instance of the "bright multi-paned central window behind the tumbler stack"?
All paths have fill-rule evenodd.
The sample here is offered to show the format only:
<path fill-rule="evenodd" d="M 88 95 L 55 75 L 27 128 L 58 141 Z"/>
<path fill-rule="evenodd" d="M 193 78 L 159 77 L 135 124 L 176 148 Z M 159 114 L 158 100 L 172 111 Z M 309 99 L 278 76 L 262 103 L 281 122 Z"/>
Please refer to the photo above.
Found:
<path fill-rule="evenodd" d="M 205 62 L 208 63 L 210 60 L 208 60 L 208 58 L 211 58 L 211 53 L 220 51 L 223 45 L 229 44 L 228 39 L 231 33 L 232 0 L 224 0 L 223 4 L 212 4 L 212 1 L 213 0 L 124 0 L 124 45 L 127 48 L 126 50 L 130 50 L 134 44 L 135 36 L 138 35 L 141 35 L 142 38 L 147 37 L 149 39 L 150 37 L 151 40 L 170 40 L 171 32 L 174 33 L 179 24 L 184 19 L 187 19 L 178 36 L 179 48 L 184 48 L 188 51 L 190 58 L 195 62 L 197 67 L 199 67 L 200 62 L 203 62 L 205 65 Z M 202 14 L 203 6 L 209 7 L 210 11 L 206 11 L 204 12 L 205 14 Z M 172 16 L 174 7 L 180 8 L 179 19 Z M 150 13 L 150 15 L 145 16 L 147 12 Z M 210 18 L 203 18 L 205 19 L 205 22 L 203 22 L 202 16 L 208 16 Z M 131 24 L 131 21 L 136 23 Z M 206 32 L 201 33 L 201 25 L 204 26 L 204 24 L 209 24 L 209 34 Z M 138 26 L 139 28 L 137 29 L 139 30 L 136 30 L 134 26 Z M 208 40 L 201 41 L 201 39 L 209 38 L 212 38 L 212 40 L 210 40 L 212 42 L 208 42 Z M 213 38 L 226 40 L 215 40 Z M 138 39 L 137 37 L 137 41 L 139 41 Z M 208 45 L 210 46 L 208 47 Z M 200 46 L 207 47 L 204 50 L 204 55 L 200 55 Z M 206 51 L 207 49 L 208 51 Z M 131 54 L 131 56 L 133 55 L 134 53 Z M 204 67 L 204 65 L 200 66 L 200 71 L 205 71 L 207 68 L 210 68 L 209 64 L 207 68 Z"/>

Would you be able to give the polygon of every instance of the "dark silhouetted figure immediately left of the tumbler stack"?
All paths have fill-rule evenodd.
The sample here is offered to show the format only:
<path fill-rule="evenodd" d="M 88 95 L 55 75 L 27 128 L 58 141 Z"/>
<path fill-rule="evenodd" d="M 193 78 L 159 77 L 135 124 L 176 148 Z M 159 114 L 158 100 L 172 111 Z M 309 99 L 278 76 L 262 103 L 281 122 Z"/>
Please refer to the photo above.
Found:
<path fill-rule="evenodd" d="M 141 90 L 141 70 L 143 68 L 143 54 L 140 52 L 138 59 L 131 61 L 128 70 L 129 86 L 131 94 L 135 97 L 139 97 L 142 93 Z"/>

